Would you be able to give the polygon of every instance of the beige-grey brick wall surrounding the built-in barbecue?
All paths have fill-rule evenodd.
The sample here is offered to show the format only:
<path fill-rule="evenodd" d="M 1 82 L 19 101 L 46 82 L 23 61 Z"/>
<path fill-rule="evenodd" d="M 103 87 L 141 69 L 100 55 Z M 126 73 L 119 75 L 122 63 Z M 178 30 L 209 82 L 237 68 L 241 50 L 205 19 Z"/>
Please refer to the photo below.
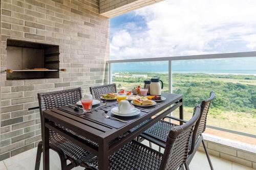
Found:
<path fill-rule="evenodd" d="M 96 0 L 1 0 L 0 160 L 36 147 L 37 93 L 101 85 L 108 80 L 109 19 Z M 59 79 L 6 80 L 7 38 L 60 47 Z"/>

